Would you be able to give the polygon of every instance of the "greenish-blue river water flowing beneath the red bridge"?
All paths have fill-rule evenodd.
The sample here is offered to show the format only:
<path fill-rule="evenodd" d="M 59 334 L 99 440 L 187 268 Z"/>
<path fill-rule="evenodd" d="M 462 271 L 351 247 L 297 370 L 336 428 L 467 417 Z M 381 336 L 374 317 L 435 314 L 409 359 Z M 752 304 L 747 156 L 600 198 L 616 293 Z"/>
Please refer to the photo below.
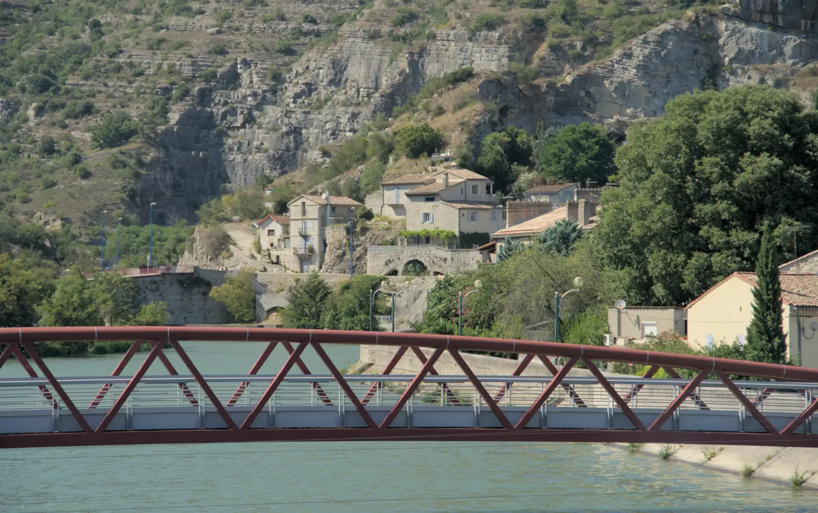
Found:
<path fill-rule="evenodd" d="M 184 345 L 205 374 L 247 372 L 262 344 Z M 326 346 L 339 367 L 357 346 Z M 180 373 L 184 366 L 168 353 Z M 133 373 L 146 353 L 124 372 Z M 121 355 L 52 358 L 101 376 Z M 263 373 L 285 359 L 276 348 Z M 309 349 L 311 372 L 326 368 Z M 157 362 L 149 374 L 164 374 Z M 11 361 L 0 377 L 22 376 Z M 818 491 L 746 480 L 594 444 L 318 442 L 5 449 L 0 511 L 438 513 L 818 511 Z"/>

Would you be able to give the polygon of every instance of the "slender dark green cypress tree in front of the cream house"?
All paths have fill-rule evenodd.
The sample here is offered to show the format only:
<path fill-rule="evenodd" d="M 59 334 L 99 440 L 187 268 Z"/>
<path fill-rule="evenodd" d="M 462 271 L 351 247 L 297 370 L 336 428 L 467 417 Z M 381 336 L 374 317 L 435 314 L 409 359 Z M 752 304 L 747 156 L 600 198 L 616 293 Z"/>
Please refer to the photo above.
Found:
<path fill-rule="evenodd" d="M 770 225 L 762 231 L 762 247 L 756 262 L 756 287 L 753 288 L 753 320 L 747 328 L 749 359 L 768 364 L 784 364 L 787 346 L 781 328 L 781 283 L 777 252 Z"/>

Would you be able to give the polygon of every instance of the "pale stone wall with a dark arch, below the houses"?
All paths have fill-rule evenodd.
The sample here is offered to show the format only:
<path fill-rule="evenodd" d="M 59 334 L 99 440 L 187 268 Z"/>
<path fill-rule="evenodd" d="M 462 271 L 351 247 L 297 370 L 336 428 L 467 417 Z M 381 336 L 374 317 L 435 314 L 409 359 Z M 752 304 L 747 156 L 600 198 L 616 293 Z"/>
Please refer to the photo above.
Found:
<path fill-rule="evenodd" d="M 488 213 L 486 214 L 488 215 Z M 398 271 L 409 261 L 421 261 L 431 275 L 458 274 L 476 269 L 483 261 L 475 249 L 447 249 L 439 246 L 375 246 L 366 252 L 366 274 Z"/>

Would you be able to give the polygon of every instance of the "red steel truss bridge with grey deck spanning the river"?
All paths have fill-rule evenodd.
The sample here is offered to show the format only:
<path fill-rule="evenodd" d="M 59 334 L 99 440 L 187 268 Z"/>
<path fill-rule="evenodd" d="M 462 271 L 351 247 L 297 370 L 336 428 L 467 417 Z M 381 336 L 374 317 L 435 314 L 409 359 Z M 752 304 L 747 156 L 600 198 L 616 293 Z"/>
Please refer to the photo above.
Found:
<path fill-rule="evenodd" d="M 133 342 L 110 376 L 60 377 L 38 355 L 43 341 Z M 182 342 L 212 341 L 267 344 L 247 374 L 203 376 Z M 144 344 L 142 364 L 121 375 Z M 342 375 L 327 344 L 395 352 L 380 374 Z M 309 371 L 308 348 L 329 373 Z M 0 379 L 0 448 L 298 440 L 818 447 L 811 368 L 541 341 L 270 328 L 2 328 L 0 349 L 0 367 L 14 358 L 29 375 Z M 258 373 L 274 350 L 285 363 Z M 518 366 L 511 376 L 477 376 L 460 350 L 512 353 Z M 183 367 L 173 366 L 173 354 Z M 407 354 L 420 371 L 392 374 Z M 524 375 L 534 359 L 551 375 Z M 438 374 L 444 361 L 462 373 Z M 603 372 L 615 362 L 646 372 Z M 149 374 L 152 366 L 164 374 Z"/>

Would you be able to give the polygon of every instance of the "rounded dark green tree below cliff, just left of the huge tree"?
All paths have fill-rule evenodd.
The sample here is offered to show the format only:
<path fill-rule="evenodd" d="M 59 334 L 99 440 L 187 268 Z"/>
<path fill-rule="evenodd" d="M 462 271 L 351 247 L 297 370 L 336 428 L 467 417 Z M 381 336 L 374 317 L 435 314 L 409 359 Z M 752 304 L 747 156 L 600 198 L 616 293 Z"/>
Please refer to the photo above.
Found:
<path fill-rule="evenodd" d="M 560 181 L 591 180 L 604 185 L 615 170 L 615 152 L 601 128 L 587 122 L 569 125 L 543 143 L 540 167 L 545 176 Z"/>

